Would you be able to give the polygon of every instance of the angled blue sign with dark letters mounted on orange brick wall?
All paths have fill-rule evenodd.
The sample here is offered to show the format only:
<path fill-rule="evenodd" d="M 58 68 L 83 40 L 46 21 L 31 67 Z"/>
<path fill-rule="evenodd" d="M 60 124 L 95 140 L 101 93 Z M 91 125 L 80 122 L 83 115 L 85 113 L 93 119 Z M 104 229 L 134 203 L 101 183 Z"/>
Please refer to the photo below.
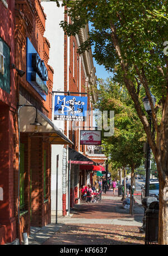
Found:
<path fill-rule="evenodd" d="M 48 94 L 48 70 L 45 67 L 44 61 L 41 60 L 39 54 L 36 52 L 34 46 L 27 38 L 27 82 L 38 92 L 41 97 L 46 100 Z"/>

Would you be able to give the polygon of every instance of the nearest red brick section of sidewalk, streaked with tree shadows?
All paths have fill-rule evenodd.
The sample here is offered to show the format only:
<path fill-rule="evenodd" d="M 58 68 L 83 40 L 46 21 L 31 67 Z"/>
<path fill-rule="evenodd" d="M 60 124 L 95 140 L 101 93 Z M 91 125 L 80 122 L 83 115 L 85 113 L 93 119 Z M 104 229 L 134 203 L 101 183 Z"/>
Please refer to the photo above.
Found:
<path fill-rule="evenodd" d="M 137 227 L 113 225 L 64 225 L 44 245 L 138 245 L 144 237 Z"/>

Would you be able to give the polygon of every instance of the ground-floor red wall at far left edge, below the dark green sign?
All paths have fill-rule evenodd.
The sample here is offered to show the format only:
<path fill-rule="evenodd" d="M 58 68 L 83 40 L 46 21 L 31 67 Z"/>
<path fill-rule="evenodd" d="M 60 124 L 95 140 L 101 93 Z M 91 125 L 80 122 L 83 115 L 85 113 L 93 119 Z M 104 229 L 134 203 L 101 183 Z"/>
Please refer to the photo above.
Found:
<path fill-rule="evenodd" d="M 13 211 L 13 116 L 5 104 L 1 104 L 0 122 L 0 187 L 3 189 L 3 200 L 0 200 L 0 226 L 4 226 L 0 230 L 0 240 L 7 243 L 16 237 L 16 230 L 13 231 L 16 227 L 16 218 Z"/>

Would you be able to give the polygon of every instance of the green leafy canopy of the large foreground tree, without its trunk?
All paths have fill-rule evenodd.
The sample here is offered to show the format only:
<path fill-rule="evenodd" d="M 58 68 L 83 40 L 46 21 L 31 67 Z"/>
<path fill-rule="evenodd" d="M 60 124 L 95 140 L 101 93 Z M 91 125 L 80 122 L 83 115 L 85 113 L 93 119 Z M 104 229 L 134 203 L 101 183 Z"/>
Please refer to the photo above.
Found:
<path fill-rule="evenodd" d="M 80 0 L 65 1 L 67 13 L 72 24 L 61 22 L 68 35 L 75 35 L 87 23 L 92 24 L 89 40 L 81 45 L 80 53 L 88 51 L 94 44 L 93 55 L 107 70 L 114 70 L 120 63 L 114 48 L 111 24 L 119 43 L 122 58 L 127 63 L 128 80 L 134 82 L 136 72 L 142 66 L 148 86 L 158 98 L 166 94 L 166 58 L 163 43 L 167 40 L 167 3 L 165 1 L 116 1 L 116 0 Z M 157 71 L 157 64 L 164 70 L 165 78 Z M 154 74 L 153 74 L 154 73 Z M 121 70 L 115 72 L 115 78 L 121 80 Z"/>

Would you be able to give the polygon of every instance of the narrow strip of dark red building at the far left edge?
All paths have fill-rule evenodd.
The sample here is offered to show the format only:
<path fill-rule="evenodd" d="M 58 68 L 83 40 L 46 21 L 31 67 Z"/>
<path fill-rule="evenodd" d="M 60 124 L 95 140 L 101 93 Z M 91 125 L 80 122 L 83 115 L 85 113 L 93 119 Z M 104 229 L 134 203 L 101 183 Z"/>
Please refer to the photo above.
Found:
<path fill-rule="evenodd" d="M 15 62 L 15 1 L 1 0 L 0 10 L 0 244 L 4 244 L 16 237 L 13 194 L 16 83 L 15 70 L 10 68 Z"/>

